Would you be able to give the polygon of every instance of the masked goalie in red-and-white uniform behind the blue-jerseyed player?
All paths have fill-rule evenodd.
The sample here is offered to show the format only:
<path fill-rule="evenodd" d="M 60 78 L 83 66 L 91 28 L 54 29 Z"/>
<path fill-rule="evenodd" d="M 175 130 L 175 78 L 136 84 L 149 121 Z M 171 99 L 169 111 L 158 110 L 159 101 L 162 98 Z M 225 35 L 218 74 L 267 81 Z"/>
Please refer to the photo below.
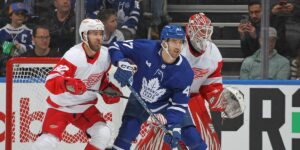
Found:
<path fill-rule="evenodd" d="M 186 25 L 186 33 L 188 42 L 182 54 L 194 71 L 189 108 L 208 149 L 219 150 L 220 141 L 205 103 L 208 103 L 209 110 L 222 112 L 222 117 L 234 118 L 243 113 L 244 97 L 235 88 L 223 87 L 223 60 L 219 49 L 211 41 L 211 20 L 204 13 L 192 15 Z"/>

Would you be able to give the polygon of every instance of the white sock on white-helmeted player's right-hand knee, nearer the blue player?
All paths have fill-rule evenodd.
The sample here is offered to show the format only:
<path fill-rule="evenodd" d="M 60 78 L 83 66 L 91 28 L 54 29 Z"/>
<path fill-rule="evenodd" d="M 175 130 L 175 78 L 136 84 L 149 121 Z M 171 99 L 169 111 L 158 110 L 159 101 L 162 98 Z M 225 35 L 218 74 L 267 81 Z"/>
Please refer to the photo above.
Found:
<path fill-rule="evenodd" d="M 104 122 L 97 122 L 87 129 L 87 133 L 91 136 L 89 144 L 98 149 L 105 149 L 111 138 L 111 129 Z"/>

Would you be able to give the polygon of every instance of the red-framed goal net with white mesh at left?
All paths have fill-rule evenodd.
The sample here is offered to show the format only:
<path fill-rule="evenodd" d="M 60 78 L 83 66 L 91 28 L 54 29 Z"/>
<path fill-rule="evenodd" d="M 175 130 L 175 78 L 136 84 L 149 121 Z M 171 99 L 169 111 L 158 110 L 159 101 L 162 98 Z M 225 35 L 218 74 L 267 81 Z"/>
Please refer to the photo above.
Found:
<path fill-rule="evenodd" d="M 47 96 L 43 83 L 59 59 L 13 58 L 6 67 L 5 149 L 25 148 L 41 129 Z"/>

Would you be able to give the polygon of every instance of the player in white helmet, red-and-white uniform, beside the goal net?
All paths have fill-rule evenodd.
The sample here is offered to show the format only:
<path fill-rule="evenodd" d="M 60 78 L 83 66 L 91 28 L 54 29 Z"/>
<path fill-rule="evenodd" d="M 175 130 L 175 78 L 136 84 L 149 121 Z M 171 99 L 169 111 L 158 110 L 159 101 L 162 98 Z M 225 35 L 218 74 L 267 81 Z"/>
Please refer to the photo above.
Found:
<path fill-rule="evenodd" d="M 100 20 L 84 19 L 79 27 L 80 44 L 68 50 L 46 79 L 49 91 L 42 135 L 33 150 L 54 150 L 68 124 L 73 124 L 90 137 L 85 150 L 105 149 L 111 136 L 100 111 L 95 107 L 97 94 L 87 89 L 116 92 L 120 90 L 108 80 L 111 66 L 108 49 L 102 45 L 104 26 Z M 108 103 L 119 97 L 102 95 Z"/>

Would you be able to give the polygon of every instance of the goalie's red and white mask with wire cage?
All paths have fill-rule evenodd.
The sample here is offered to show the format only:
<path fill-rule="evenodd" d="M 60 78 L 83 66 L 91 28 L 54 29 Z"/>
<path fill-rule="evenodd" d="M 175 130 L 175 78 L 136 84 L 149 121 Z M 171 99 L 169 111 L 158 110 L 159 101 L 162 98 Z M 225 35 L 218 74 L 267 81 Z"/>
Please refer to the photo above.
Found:
<path fill-rule="evenodd" d="M 207 49 L 208 41 L 211 41 L 211 20 L 204 13 L 194 14 L 189 19 L 186 32 L 194 49 L 202 53 Z"/>

